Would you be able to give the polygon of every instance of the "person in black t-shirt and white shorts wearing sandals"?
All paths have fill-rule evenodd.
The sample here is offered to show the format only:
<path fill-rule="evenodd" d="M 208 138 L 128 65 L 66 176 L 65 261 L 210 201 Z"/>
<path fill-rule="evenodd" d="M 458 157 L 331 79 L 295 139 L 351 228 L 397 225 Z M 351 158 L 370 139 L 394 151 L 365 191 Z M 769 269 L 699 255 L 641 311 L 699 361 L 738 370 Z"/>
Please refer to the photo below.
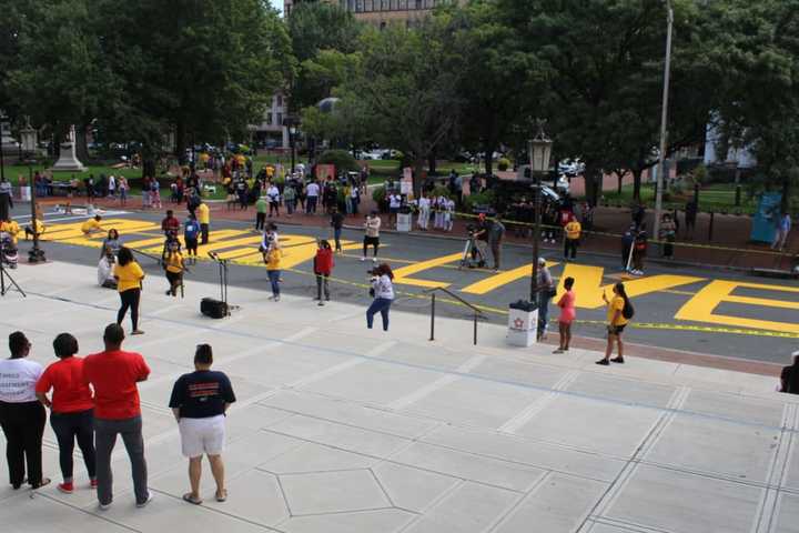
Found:
<path fill-rule="evenodd" d="M 222 451 L 225 441 L 225 412 L 235 402 L 230 379 L 211 370 L 213 352 L 210 344 L 200 344 L 194 354 L 194 372 L 181 375 L 172 388 L 170 408 L 180 428 L 183 455 L 189 457 L 191 492 L 183 500 L 199 505 L 203 453 L 209 456 L 216 481 L 216 501 L 224 502 Z"/>

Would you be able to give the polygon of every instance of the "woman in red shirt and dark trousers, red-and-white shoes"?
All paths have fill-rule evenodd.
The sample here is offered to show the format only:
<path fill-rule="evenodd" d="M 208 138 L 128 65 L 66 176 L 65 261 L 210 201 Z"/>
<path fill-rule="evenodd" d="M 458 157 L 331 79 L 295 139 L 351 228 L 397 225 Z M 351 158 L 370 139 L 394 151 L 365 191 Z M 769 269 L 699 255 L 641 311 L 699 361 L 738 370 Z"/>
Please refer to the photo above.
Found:
<path fill-rule="evenodd" d="M 83 382 L 83 360 L 75 358 L 78 340 L 69 333 L 61 333 L 53 341 L 55 356 L 36 384 L 36 395 L 50 409 L 50 425 L 59 443 L 59 463 L 63 483 L 58 490 L 72 494 L 72 451 L 75 439 L 83 454 L 92 487 L 97 486 L 94 470 L 94 430 L 92 424 L 92 392 Z M 47 394 L 52 390 L 52 399 Z"/>

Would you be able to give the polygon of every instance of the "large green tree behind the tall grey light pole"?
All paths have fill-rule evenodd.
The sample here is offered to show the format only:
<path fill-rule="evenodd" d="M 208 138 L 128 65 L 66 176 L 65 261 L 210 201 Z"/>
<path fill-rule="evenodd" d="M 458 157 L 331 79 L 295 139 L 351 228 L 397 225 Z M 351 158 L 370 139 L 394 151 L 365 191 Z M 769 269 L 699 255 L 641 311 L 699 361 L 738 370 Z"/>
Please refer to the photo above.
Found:
<path fill-rule="evenodd" d="M 704 139 L 711 91 L 700 11 L 675 0 L 675 62 L 667 153 Z M 506 22 L 547 66 L 540 115 L 556 151 L 586 163 L 586 193 L 596 202 L 604 169 L 636 175 L 657 161 L 666 6 L 660 0 L 498 0 Z M 698 62 L 699 61 L 699 62 Z"/>

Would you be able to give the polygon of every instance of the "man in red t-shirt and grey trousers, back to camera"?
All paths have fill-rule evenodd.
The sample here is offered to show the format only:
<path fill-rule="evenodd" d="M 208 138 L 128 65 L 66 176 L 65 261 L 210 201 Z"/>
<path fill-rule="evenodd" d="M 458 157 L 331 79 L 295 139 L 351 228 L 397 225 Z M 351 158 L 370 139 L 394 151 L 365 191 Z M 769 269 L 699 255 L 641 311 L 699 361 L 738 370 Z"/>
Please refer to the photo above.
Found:
<path fill-rule="evenodd" d="M 136 506 L 152 500 L 146 486 L 146 462 L 142 436 L 141 406 L 136 383 L 145 381 L 150 368 L 140 353 L 123 352 L 124 331 L 109 324 L 103 333 L 105 350 L 83 361 L 83 382 L 94 389 L 94 446 L 97 447 L 98 501 L 107 510 L 113 500 L 111 452 L 122 435 L 133 471 Z"/>

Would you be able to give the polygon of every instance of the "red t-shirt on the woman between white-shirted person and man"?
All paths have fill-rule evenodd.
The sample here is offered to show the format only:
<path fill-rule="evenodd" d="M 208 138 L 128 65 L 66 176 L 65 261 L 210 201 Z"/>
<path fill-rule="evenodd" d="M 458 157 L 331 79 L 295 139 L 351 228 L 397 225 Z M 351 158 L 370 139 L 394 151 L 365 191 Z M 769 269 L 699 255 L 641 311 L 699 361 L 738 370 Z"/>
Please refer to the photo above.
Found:
<path fill-rule="evenodd" d="M 53 391 L 52 412 L 74 413 L 88 411 L 92 403 L 91 389 L 83 382 L 83 360 L 67 358 L 47 368 L 37 382 L 36 391 L 42 394 Z"/>

